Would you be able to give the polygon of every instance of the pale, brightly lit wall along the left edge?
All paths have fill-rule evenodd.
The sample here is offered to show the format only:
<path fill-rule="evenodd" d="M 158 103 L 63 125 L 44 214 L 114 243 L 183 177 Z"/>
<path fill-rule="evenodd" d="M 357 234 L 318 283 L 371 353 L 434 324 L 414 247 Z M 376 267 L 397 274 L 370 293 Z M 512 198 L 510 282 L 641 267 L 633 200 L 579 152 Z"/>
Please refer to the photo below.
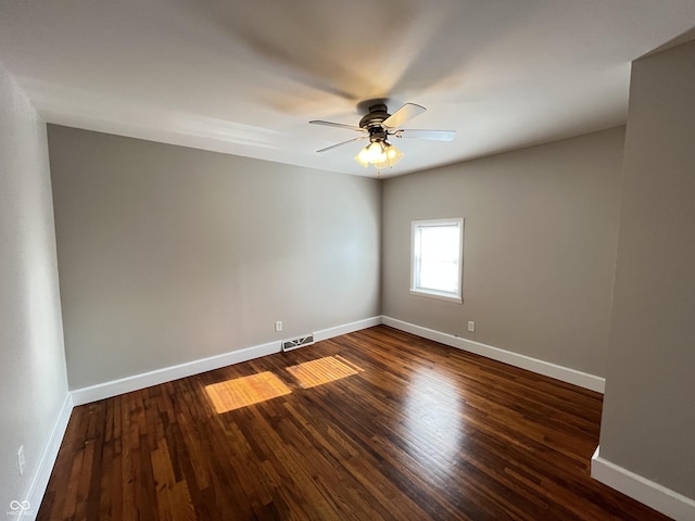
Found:
<path fill-rule="evenodd" d="M 48 165 L 46 125 L 0 66 L 2 514 L 10 501 L 27 498 L 67 396 Z M 26 458 L 21 478 L 16 465 L 20 445 Z"/>

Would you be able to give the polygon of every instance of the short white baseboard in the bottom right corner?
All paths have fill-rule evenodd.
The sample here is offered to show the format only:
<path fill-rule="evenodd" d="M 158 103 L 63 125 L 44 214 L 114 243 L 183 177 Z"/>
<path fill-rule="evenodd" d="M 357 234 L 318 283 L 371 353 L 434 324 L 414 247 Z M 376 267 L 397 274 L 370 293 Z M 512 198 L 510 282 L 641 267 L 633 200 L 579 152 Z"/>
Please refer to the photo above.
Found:
<path fill-rule="evenodd" d="M 695 519 L 695 499 L 602 458 L 601 447 L 591 458 L 591 476 L 677 521 Z"/>

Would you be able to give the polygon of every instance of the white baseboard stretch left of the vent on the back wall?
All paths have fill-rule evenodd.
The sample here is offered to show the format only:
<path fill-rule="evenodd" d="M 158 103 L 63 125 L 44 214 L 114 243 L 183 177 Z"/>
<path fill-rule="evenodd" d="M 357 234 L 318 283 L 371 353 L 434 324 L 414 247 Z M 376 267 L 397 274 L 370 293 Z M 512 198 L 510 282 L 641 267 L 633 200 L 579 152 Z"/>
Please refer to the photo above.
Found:
<path fill-rule="evenodd" d="M 200 360 L 188 361 L 177 366 L 165 367 L 154 371 L 135 374 L 132 377 L 121 378 L 110 382 L 98 383 L 89 387 L 76 389 L 71 392 L 73 403 L 77 405 L 89 404 L 99 399 L 111 398 L 124 393 L 130 393 L 140 389 L 159 385 L 161 383 L 170 382 L 179 378 L 192 377 L 205 371 L 219 369 L 220 367 L 231 366 L 242 361 L 252 360 L 266 355 L 280 353 L 280 341 L 269 342 L 267 344 L 254 345 L 222 355 L 201 358 Z"/>

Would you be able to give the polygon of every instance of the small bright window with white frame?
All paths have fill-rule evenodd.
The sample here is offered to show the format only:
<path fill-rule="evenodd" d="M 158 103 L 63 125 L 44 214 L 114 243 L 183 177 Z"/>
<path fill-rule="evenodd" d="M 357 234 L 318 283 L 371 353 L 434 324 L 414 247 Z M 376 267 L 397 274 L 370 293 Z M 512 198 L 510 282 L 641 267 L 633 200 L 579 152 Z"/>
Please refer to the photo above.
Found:
<path fill-rule="evenodd" d="M 414 220 L 410 293 L 463 302 L 464 219 Z"/>

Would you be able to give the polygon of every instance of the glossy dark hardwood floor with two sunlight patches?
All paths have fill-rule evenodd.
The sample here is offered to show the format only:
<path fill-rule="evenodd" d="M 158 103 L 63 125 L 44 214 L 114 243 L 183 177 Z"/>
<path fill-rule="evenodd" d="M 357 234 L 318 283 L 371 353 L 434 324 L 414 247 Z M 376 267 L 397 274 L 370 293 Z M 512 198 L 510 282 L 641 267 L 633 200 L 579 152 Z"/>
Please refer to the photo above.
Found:
<path fill-rule="evenodd" d="M 601 407 L 379 326 L 76 407 L 38 519 L 666 520 L 590 478 Z"/>

